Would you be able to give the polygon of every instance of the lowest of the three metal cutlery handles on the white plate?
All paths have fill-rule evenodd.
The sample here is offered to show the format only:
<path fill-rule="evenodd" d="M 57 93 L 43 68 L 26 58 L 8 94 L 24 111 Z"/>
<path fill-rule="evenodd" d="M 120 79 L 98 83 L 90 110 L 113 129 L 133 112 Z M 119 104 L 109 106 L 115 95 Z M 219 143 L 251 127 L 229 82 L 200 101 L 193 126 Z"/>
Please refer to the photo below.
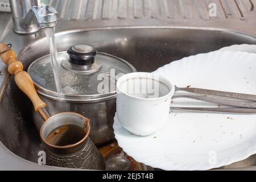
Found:
<path fill-rule="evenodd" d="M 199 113 L 256 114 L 256 109 L 237 107 L 171 107 L 170 111 L 192 111 Z"/>

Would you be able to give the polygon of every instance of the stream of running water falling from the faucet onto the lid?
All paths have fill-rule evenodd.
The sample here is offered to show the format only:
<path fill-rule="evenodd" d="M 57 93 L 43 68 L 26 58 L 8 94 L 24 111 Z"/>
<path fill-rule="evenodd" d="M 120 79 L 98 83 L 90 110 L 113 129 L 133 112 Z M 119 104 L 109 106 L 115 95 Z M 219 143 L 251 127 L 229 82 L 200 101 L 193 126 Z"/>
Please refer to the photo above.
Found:
<path fill-rule="evenodd" d="M 61 86 L 61 77 L 60 77 L 60 63 L 57 57 L 57 47 L 55 42 L 55 27 L 52 28 L 44 28 L 46 33 L 46 37 L 49 43 L 49 52 L 52 61 L 53 75 L 55 78 L 55 85 L 58 94 L 59 100 L 63 99 L 63 92 Z"/>

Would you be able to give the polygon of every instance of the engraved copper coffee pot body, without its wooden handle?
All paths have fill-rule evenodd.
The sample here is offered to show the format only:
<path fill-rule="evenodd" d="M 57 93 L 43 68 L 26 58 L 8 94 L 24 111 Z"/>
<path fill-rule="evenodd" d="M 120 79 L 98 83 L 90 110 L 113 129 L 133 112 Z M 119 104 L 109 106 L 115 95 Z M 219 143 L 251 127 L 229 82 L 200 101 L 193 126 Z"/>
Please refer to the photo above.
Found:
<path fill-rule="evenodd" d="M 105 169 L 105 160 L 89 137 L 89 119 L 77 113 L 59 113 L 40 129 L 46 146 L 46 164 L 56 167 Z"/>

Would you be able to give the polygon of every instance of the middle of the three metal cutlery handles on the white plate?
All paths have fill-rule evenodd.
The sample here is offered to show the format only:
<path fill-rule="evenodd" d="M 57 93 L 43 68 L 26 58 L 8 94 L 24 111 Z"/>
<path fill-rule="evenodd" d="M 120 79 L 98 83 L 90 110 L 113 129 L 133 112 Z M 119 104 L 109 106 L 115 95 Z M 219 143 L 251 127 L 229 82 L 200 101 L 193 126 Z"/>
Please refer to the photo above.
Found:
<path fill-rule="evenodd" d="M 254 101 L 232 100 L 231 98 L 226 99 L 226 97 L 210 96 L 206 94 L 179 94 L 179 95 L 172 96 L 173 100 L 176 98 L 189 98 L 193 100 L 213 102 L 215 104 L 226 105 L 226 106 L 256 109 L 256 102 Z"/>

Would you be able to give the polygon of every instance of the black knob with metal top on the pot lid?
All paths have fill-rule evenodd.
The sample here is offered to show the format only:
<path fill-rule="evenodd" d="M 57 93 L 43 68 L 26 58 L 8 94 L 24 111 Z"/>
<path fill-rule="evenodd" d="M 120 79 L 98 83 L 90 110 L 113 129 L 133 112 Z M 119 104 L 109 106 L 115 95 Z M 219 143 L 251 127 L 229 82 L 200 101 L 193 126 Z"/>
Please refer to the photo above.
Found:
<path fill-rule="evenodd" d="M 68 49 L 69 62 L 76 65 L 90 65 L 95 61 L 97 51 L 86 45 L 76 45 Z"/>

